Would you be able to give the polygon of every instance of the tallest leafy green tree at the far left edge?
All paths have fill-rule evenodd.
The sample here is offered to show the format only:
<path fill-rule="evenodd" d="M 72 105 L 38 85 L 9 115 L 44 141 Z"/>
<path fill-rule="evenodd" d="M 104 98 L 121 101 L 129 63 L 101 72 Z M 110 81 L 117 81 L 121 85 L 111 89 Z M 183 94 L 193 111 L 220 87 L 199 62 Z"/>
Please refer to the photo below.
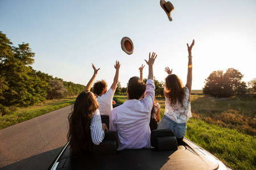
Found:
<path fill-rule="evenodd" d="M 32 91 L 31 69 L 28 65 L 34 62 L 35 53 L 31 52 L 28 44 L 11 46 L 12 42 L 6 35 L 0 32 L 0 70 L 1 70 L 1 94 L 0 103 L 10 105 L 31 105 L 37 99 L 30 94 Z"/>

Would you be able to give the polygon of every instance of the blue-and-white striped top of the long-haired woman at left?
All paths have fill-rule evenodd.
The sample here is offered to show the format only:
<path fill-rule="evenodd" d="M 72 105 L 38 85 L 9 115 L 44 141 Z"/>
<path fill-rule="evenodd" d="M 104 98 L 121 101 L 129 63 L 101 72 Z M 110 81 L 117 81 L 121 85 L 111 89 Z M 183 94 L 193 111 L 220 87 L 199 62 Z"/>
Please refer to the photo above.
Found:
<path fill-rule="evenodd" d="M 90 123 L 90 135 L 95 145 L 99 145 L 105 136 L 102 130 L 100 111 L 98 109 L 94 112 L 92 122 Z"/>

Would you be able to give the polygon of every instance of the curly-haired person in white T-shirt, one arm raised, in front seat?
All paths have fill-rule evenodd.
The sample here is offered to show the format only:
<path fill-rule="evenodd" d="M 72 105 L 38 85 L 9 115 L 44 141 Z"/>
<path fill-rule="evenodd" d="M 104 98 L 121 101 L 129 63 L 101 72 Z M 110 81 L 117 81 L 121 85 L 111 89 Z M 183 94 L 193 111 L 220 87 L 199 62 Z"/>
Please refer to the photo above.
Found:
<path fill-rule="evenodd" d="M 115 89 L 117 88 L 118 78 L 119 78 L 119 69 L 120 69 L 120 63 L 119 61 L 115 61 L 115 76 L 114 76 L 114 82 L 112 86 L 108 90 L 108 84 L 104 81 L 97 81 L 93 84 L 93 92 L 97 95 L 97 101 L 100 108 L 100 114 L 101 115 L 107 115 L 109 116 L 110 111 L 112 111 L 113 106 L 113 96 L 115 93 Z"/>

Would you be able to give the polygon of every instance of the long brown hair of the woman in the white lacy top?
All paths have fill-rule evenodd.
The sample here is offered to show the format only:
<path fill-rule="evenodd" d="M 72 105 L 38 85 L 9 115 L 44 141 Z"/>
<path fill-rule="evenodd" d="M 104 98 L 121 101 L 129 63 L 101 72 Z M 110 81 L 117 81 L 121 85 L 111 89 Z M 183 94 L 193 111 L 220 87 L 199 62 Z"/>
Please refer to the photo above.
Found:
<path fill-rule="evenodd" d="M 167 98 L 169 99 L 170 105 L 174 106 L 177 103 L 183 105 L 183 99 L 185 96 L 184 86 L 180 78 L 175 74 L 170 74 L 166 77 L 164 84 L 166 88 Z"/>

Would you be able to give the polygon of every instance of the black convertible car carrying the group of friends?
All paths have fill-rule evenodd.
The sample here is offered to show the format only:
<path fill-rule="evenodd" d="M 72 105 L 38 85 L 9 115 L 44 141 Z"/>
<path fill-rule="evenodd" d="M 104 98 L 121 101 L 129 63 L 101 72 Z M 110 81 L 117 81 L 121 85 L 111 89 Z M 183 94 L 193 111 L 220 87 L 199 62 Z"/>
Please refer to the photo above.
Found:
<path fill-rule="evenodd" d="M 101 118 L 108 126 L 108 116 Z M 48 169 L 231 169 L 187 138 L 177 142 L 170 129 L 151 131 L 151 146 L 117 151 L 117 134 L 106 131 L 92 155 L 72 155 L 67 143 Z"/>

